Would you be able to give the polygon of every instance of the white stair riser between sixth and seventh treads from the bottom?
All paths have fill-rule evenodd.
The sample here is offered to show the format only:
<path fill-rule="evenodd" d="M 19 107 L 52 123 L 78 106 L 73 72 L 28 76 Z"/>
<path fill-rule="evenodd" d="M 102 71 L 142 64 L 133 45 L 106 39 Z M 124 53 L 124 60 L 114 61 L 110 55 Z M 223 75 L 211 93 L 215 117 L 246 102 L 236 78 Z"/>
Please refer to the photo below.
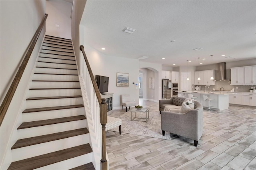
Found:
<path fill-rule="evenodd" d="M 82 95 L 81 89 L 51 89 L 51 90 L 30 90 L 26 94 L 29 97 L 54 97 L 54 96 L 76 96 Z"/>

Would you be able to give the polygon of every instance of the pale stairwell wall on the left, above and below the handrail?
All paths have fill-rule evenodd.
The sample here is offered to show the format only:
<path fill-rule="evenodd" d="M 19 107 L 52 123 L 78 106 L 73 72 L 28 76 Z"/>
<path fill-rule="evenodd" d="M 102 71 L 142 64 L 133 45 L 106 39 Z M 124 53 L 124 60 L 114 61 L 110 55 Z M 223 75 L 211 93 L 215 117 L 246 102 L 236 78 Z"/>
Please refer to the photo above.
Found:
<path fill-rule="evenodd" d="M 1 103 L 9 89 L 10 83 L 23 59 L 24 52 L 32 40 L 38 26 L 45 16 L 45 0 L 26 0 L 26 1 L 0 1 L 1 17 L 1 52 L 0 52 L 0 87 Z M 45 28 L 42 30 L 34 51 L 28 61 L 26 69 L 22 75 L 20 83 L 16 89 L 12 102 L 6 113 L 4 121 L 0 128 L 0 169 L 6 169 L 10 165 L 11 151 L 10 147 L 16 141 L 17 126 L 20 125 L 24 100 L 24 95 L 28 87 L 34 63 L 38 56 L 38 51 L 42 44 L 45 34 Z M 15 124 L 16 123 L 16 124 Z M 15 125 L 14 125 L 15 124 Z M 12 133 L 14 135 L 12 135 Z M 11 138 L 11 135 L 14 138 Z M 3 160 L 4 161 L 3 163 Z"/>

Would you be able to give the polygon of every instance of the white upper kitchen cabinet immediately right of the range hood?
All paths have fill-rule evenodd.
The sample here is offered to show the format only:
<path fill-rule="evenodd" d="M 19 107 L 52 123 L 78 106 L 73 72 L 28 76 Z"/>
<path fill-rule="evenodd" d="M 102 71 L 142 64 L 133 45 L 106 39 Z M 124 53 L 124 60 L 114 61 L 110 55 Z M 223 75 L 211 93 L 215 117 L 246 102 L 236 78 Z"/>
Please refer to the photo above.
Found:
<path fill-rule="evenodd" d="M 244 67 L 231 68 L 231 85 L 244 84 Z"/>

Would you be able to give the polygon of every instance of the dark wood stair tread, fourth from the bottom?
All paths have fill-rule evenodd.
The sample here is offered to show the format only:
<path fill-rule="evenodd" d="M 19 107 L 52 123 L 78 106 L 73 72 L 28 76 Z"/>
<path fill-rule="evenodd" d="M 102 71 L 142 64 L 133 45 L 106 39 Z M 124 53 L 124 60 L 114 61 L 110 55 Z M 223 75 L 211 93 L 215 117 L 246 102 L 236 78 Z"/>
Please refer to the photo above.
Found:
<path fill-rule="evenodd" d="M 62 118 L 56 118 L 56 119 L 47 119 L 42 121 L 24 122 L 17 129 L 40 127 L 45 125 L 57 124 L 57 123 L 79 121 L 83 119 L 86 119 L 86 117 L 84 115 L 80 115 L 80 116 L 62 117 Z"/>

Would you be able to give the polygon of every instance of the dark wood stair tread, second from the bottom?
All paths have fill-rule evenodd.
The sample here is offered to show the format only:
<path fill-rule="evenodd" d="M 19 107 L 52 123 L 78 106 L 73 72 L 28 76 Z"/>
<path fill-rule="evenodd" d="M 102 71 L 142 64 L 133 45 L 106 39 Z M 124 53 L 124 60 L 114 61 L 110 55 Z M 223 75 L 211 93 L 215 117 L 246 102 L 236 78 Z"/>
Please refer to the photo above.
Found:
<path fill-rule="evenodd" d="M 88 154 L 91 152 L 92 152 L 92 148 L 90 147 L 90 144 L 83 144 L 80 146 L 75 146 L 72 148 L 67 148 L 64 150 L 59 150 L 56 152 L 51 152 L 48 154 L 43 154 L 40 156 L 35 156 L 32 158 L 12 162 L 8 170 L 16 170 L 16 169 L 28 170 L 28 169 L 40 168 L 42 166 L 54 164 L 56 162 L 60 162 L 63 160 Z"/>

